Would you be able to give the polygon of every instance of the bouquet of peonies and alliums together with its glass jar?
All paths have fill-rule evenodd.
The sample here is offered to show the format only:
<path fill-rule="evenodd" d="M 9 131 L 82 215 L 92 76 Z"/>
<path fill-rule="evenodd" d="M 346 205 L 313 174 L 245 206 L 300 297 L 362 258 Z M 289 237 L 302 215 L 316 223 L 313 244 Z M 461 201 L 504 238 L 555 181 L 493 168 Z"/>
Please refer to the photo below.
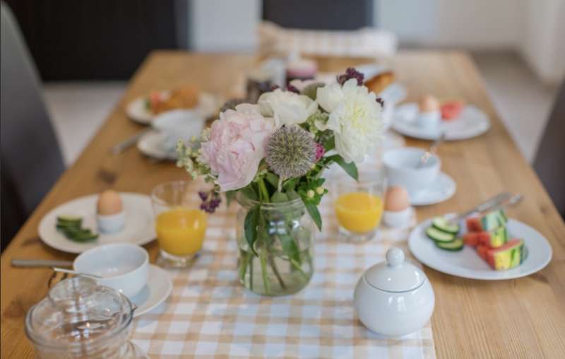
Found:
<path fill-rule="evenodd" d="M 179 142 L 179 166 L 203 175 L 212 213 L 225 193 L 236 199 L 239 279 L 256 293 L 295 293 L 309 282 L 313 240 L 321 230 L 323 171 L 333 163 L 357 179 L 355 163 L 381 139 L 382 102 L 355 69 L 335 83 L 293 81 L 256 105 L 228 102 L 199 138 Z M 314 227 L 315 225 L 315 227 Z"/>

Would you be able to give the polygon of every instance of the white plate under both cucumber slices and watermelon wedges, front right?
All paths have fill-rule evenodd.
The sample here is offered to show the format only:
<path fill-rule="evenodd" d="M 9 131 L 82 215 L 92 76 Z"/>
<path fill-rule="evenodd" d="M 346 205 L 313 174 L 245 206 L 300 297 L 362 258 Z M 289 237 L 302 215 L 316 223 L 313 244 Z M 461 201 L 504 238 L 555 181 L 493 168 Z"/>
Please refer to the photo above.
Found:
<path fill-rule="evenodd" d="M 449 252 L 436 247 L 434 241 L 425 233 L 431 223 L 432 218 L 424 220 L 412 230 L 408 237 L 408 247 L 414 257 L 423 264 L 452 276 L 486 281 L 520 278 L 539 271 L 552 259 L 552 247 L 545 237 L 529 225 L 511 218 L 507 223 L 509 233 L 512 237 L 524 240 L 528 257 L 523 264 L 514 269 L 494 271 L 472 247 L 465 246 L 458 252 Z"/>

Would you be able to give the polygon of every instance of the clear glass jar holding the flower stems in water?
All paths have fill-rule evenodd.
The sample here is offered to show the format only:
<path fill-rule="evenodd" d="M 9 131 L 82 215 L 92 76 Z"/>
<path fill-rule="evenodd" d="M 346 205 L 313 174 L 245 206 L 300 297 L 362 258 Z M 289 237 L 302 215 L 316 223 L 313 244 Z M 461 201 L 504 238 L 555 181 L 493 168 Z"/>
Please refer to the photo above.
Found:
<path fill-rule="evenodd" d="M 314 273 L 316 226 L 301 199 L 263 203 L 238 193 L 239 281 L 261 295 L 287 295 L 304 288 Z M 256 220 L 253 220 L 253 218 Z M 253 247 L 246 220 L 256 223 Z M 248 226 L 248 232 L 253 230 Z"/>

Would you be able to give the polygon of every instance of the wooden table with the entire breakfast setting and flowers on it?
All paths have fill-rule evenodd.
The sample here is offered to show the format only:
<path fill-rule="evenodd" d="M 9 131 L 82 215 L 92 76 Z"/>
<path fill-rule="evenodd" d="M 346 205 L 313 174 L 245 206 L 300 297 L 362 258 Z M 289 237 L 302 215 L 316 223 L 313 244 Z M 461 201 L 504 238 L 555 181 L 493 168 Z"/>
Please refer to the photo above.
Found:
<path fill-rule="evenodd" d="M 557 358 L 565 224 L 479 76 L 151 52 L 3 249 L 2 358 Z"/>

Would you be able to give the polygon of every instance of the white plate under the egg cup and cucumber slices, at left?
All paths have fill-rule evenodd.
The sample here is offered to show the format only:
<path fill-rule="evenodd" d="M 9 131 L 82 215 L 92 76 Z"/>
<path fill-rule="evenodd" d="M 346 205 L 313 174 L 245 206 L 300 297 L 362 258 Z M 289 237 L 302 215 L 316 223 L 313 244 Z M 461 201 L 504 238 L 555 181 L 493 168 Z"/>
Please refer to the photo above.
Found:
<path fill-rule="evenodd" d="M 56 228 L 57 216 L 73 215 L 83 217 L 83 228 L 90 228 L 99 233 L 96 223 L 96 202 L 98 195 L 84 196 L 53 208 L 41 220 L 38 231 L 41 240 L 55 249 L 69 253 L 82 253 L 86 249 L 109 243 L 133 243 L 145 245 L 155 239 L 155 223 L 151 199 L 145 194 L 120 192 L 126 212 L 126 226 L 119 233 L 102 234 L 86 243 L 73 242 L 67 239 Z"/>

